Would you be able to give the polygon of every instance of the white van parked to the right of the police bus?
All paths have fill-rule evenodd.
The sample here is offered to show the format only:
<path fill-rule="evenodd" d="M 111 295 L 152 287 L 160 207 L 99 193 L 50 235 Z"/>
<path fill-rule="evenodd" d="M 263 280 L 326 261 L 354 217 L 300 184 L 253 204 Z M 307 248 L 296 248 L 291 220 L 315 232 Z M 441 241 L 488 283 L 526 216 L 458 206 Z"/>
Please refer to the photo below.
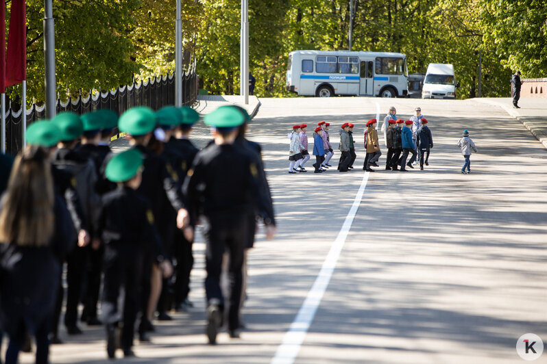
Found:
<path fill-rule="evenodd" d="M 458 86 L 452 64 L 430 63 L 422 87 L 422 99 L 456 99 Z"/>

